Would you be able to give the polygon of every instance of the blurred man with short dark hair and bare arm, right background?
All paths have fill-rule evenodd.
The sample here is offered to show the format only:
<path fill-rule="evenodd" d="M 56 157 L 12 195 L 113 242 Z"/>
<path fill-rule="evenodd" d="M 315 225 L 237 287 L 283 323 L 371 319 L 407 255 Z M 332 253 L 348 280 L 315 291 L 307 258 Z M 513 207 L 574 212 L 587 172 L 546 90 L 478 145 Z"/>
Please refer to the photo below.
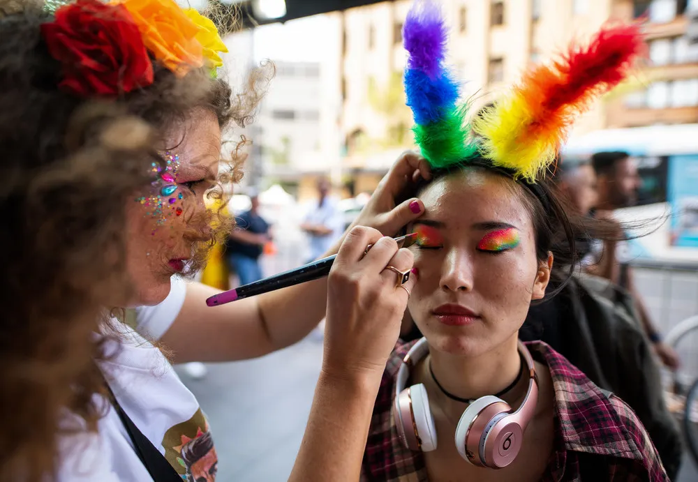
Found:
<path fill-rule="evenodd" d="M 637 172 L 637 161 L 627 152 L 609 151 L 595 153 L 591 162 L 598 180 L 598 201 L 594 216 L 616 222 L 613 211 L 634 206 L 637 202 L 637 191 L 642 183 Z M 623 235 L 620 225 L 618 231 L 621 233 L 619 239 L 629 237 Z M 628 264 L 628 251 L 624 241 L 606 240 L 602 243 L 592 243 L 591 252 L 584 259 L 584 266 L 588 273 L 606 278 L 630 292 L 639 320 L 653 343 L 656 354 L 664 366 L 676 370 L 679 366 L 678 355 L 662 341 L 660 332 L 651 321 L 642 296 L 635 286 L 633 271 Z"/>

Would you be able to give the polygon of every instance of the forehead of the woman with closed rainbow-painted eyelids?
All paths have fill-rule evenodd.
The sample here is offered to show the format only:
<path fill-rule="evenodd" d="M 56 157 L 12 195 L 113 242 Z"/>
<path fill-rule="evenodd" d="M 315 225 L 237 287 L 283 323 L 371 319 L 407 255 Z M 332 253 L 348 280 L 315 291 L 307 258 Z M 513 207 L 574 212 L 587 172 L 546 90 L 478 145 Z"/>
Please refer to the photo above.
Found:
<path fill-rule="evenodd" d="M 462 170 L 440 178 L 422 192 L 425 217 L 450 227 L 490 221 L 520 229 L 532 226 L 514 181 L 484 170 Z"/>

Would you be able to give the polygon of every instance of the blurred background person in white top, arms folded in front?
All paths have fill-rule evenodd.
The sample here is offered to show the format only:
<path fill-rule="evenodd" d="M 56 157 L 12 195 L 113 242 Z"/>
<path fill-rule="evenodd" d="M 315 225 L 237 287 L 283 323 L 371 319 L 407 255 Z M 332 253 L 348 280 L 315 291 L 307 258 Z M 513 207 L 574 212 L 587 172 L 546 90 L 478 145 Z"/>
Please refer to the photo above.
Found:
<path fill-rule="evenodd" d="M 303 232 L 310 238 L 310 261 L 318 259 L 344 232 L 344 219 L 338 200 L 330 195 L 332 184 L 326 177 L 317 183 L 318 200 L 313 202 L 304 222 Z"/>

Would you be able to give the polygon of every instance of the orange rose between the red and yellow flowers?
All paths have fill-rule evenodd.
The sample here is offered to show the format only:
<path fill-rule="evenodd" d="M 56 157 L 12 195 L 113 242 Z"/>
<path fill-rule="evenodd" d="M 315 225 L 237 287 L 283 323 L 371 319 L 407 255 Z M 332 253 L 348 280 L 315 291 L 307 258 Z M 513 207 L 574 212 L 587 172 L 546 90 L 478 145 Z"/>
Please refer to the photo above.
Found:
<path fill-rule="evenodd" d="M 156 60 L 184 77 L 203 66 L 203 47 L 196 39 L 200 27 L 174 0 L 117 0 L 133 16 L 143 43 Z"/>

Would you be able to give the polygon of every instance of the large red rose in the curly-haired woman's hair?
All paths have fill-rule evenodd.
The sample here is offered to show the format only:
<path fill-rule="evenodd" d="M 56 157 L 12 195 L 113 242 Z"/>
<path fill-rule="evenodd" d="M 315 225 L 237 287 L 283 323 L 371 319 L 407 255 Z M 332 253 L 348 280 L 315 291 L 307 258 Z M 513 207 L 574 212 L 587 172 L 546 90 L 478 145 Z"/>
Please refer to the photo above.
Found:
<path fill-rule="evenodd" d="M 78 0 L 41 25 L 51 56 L 63 64 L 59 86 L 79 96 L 115 96 L 153 83 L 153 64 L 133 17 L 121 5 Z"/>

